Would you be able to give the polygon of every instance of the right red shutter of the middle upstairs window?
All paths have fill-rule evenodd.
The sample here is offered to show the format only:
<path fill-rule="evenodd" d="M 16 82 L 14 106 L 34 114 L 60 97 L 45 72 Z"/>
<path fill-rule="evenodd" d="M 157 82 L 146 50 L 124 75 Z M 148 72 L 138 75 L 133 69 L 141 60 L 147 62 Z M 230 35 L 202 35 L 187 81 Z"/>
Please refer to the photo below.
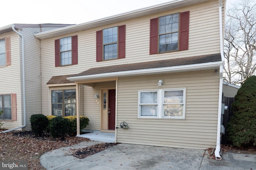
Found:
<path fill-rule="evenodd" d="M 118 27 L 118 59 L 125 58 L 125 25 Z"/>

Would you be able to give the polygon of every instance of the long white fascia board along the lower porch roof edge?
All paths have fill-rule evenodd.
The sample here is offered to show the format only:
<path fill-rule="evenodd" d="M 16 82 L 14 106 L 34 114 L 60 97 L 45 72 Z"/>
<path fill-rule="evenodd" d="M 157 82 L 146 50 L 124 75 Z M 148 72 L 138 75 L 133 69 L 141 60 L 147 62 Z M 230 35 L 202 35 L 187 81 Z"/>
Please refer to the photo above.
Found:
<path fill-rule="evenodd" d="M 107 72 L 102 74 L 91 74 L 86 76 L 73 76 L 73 77 L 68 77 L 67 80 L 82 81 L 82 80 L 94 80 L 99 78 L 140 76 L 140 75 L 148 75 L 148 74 L 163 74 L 163 73 L 171 73 L 171 72 L 207 70 L 207 69 L 219 68 L 220 65 L 224 65 L 224 63 L 222 61 L 218 61 L 218 62 L 212 62 L 212 63 L 191 64 L 191 65 L 182 65 L 182 66 L 148 68 L 148 69 L 141 69 L 141 70 L 120 71 L 120 72 Z"/>

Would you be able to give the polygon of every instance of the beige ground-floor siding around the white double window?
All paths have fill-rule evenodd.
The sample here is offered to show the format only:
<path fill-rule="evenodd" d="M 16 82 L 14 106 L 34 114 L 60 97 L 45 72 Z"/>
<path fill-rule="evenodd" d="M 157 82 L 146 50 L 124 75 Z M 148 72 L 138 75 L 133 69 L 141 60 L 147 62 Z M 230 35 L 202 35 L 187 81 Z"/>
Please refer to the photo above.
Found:
<path fill-rule="evenodd" d="M 164 85 L 158 86 L 159 79 Z M 185 119 L 138 118 L 138 90 L 186 88 Z M 214 70 L 119 78 L 117 142 L 163 147 L 215 147 L 219 76 Z"/>

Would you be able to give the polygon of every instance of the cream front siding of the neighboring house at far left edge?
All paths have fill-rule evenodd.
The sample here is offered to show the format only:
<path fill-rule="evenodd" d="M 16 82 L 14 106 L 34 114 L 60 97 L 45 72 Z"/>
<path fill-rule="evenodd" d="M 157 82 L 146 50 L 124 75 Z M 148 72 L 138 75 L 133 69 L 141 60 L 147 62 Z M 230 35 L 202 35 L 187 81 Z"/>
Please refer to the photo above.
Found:
<path fill-rule="evenodd" d="M 8 32 L 0 35 L 0 39 L 10 37 L 11 65 L 0 67 L 0 94 L 16 93 L 17 121 L 2 121 L 3 128 L 12 129 L 22 125 L 21 116 L 21 87 L 20 87 L 20 51 L 19 37 L 16 33 Z"/>

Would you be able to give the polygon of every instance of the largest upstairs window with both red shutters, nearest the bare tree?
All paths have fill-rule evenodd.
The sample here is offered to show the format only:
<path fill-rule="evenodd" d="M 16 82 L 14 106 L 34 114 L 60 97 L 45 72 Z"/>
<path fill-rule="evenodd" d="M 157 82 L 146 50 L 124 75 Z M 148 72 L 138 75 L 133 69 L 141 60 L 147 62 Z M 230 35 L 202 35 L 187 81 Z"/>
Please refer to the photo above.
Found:
<path fill-rule="evenodd" d="M 189 11 L 150 20 L 150 54 L 188 50 Z"/>

